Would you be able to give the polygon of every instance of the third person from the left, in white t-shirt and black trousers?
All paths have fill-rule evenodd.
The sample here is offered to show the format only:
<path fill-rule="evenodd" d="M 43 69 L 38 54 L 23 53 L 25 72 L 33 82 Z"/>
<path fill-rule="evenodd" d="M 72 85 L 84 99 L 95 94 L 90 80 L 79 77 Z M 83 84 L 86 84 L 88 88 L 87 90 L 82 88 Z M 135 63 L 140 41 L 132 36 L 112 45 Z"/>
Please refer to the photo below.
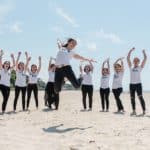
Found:
<path fill-rule="evenodd" d="M 27 86 L 27 110 L 29 109 L 31 94 L 33 92 L 36 108 L 38 109 L 38 75 L 41 70 L 41 57 L 39 57 L 39 66 L 36 64 L 31 65 L 31 69 L 28 69 L 29 79 Z"/>

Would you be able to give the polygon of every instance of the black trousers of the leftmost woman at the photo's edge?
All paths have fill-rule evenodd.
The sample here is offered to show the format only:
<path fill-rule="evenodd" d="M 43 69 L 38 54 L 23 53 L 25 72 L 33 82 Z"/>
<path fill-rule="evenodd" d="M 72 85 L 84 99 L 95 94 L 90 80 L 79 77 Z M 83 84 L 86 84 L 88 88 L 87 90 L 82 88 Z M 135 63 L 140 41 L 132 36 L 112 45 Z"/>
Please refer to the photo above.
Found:
<path fill-rule="evenodd" d="M 9 95 L 10 95 L 10 87 L 5 85 L 0 85 L 0 91 L 3 95 L 2 112 L 5 112 Z"/>

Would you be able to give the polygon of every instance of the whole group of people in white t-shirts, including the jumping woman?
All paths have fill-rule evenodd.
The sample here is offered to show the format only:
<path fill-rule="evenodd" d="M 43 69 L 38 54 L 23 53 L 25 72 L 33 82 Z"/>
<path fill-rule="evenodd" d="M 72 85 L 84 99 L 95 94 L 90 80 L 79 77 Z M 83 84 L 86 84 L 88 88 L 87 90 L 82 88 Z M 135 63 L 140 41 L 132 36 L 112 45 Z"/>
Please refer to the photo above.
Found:
<path fill-rule="evenodd" d="M 83 101 L 83 111 L 87 110 L 86 97 L 88 95 L 89 98 L 89 107 L 88 111 L 92 110 L 93 103 L 93 81 L 92 81 L 92 73 L 94 71 L 93 63 L 96 63 L 95 60 L 90 58 L 85 58 L 76 54 L 73 49 L 77 45 L 77 41 L 75 39 L 69 38 L 68 41 L 63 44 L 60 40 L 57 42 L 59 51 L 57 53 L 56 58 L 50 59 L 48 73 L 49 80 L 45 88 L 45 105 L 50 109 L 59 108 L 59 93 L 61 92 L 63 84 L 65 84 L 66 80 L 69 80 L 71 84 L 75 88 L 80 88 L 82 91 L 82 101 Z M 146 106 L 142 93 L 142 83 L 141 83 L 141 71 L 145 66 L 147 56 L 145 50 L 143 50 L 144 59 L 140 63 L 139 58 L 134 58 L 133 63 L 130 59 L 131 53 L 135 50 L 132 48 L 127 56 L 128 66 L 130 68 L 130 96 L 131 96 L 131 104 L 132 104 L 132 113 L 131 115 L 136 115 L 136 103 L 135 103 L 135 93 L 137 93 L 138 98 L 140 100 L 143 115 L 145 115 Z M 12 64 L 9 61 L 5 61 L 2 63 L 3 51 L 0 52 L 0 91 L 3 95 L 3 103 L 2 103 L 2 113 L 6 110 L 7 101 L 10 93 L 10 75 L 11 71 L 16 71 L 16 82 L 15 82 L 15 98 L 14 98 L 14 111 L 16 111 L 17 101 L 20 92 L 22 92 L 22 109 L 28 110 L 32 91 L 35 97 L 36 108 L 38 109 L 38 74 L 41 70 L 41 57 L 39 57 L 39 66 L 36 64 L 32 64 L 29 69 L 29 62 L 31 57 L 28 56 L 28 53 L 25 53 L 26 63 L 19 61 L 21 56 L 21 52 L 18 53 L 18 57 L 15 61 L 14 55 L 11 55 Z M 70 60 L 71 58 L 75 58 L 80 60 L 81 62 L 88 62 L 87 65 L 80 65 L 80 76 L 76 77 L 74 71 L 72 70 Z M 116 100 L 117 112 L 124 113 L 125 109 L 123 103 L 120 99 L 120 95 L 123 92 L 122 80 L 124 75 L 124 58 L 119 58 L 114 63 L 114 76 L 112 83 L 112 92 L 114 94 L 114 98 Z M 52 63 L 54 61 L 54 63 Z M 26 80 L 26 76 L 28 74 L 28 82 Z M 101 106 L 102 111 L 109 111 L 109 94 L 110 94 L 110 64 L 109 59 L 106 59 L 102 64 L 101 69 L 101 84 L 100 84 L 100 98 L 101 98 Z M 27 104 L 26 102 L 26 92 L 27 92 Z"/>

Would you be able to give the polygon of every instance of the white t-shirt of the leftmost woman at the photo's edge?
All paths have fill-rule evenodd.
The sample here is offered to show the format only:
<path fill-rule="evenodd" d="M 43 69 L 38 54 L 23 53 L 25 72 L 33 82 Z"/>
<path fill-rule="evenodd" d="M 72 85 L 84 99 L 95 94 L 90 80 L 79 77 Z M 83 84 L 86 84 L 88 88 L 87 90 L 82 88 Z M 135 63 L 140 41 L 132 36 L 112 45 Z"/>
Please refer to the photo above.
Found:
<path fill-rule="evenodd" d="M 0 70 L 0 84 L 10 87 L 10 78 L 11 72 L 5 71 L 4 69 Z"/>

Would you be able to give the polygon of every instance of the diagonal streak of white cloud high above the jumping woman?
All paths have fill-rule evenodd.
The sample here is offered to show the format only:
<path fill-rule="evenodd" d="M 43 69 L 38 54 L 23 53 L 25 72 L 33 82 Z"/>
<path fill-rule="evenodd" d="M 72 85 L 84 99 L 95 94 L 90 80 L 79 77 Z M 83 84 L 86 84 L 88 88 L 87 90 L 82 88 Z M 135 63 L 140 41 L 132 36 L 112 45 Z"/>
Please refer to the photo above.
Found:
<path fill-rule="evenodd" d="M 73 27 L 77 28 L 79 25 L 76 23 L 76 21 L 68 14 L 66 13 L 63 8 L 57 7 L 56 13 L 61 16 L 63 19 L 65 19 L 68 23 L 70 23 Z"/>

